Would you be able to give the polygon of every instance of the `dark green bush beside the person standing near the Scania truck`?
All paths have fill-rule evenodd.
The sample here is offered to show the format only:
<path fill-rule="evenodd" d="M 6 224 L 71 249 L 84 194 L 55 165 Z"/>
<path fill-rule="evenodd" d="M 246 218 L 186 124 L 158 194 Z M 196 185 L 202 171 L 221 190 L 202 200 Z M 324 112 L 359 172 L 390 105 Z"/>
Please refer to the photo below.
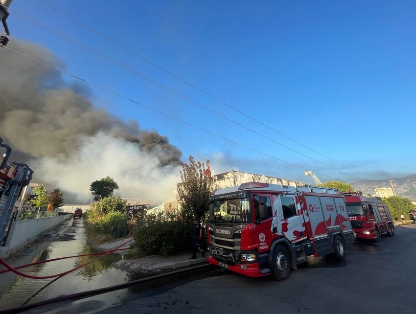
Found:
<path fill-rule="evenodd" d="M 138 221 L 129 256 L 174 255 L 189 251 L 192 225 L 179 216 L 151 216 Z"/>

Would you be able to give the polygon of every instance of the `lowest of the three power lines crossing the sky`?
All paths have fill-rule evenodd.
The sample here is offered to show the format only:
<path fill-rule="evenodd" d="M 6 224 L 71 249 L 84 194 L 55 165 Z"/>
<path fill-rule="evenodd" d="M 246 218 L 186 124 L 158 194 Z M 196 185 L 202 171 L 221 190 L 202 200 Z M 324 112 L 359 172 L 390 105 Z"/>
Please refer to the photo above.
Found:
<path fill-rule="evenodd" d="M 43 62 L 43 61 L 40 61 L 40 60 L 35 59 L 35 58 L 33 58 L 33 57 L 30 57 L 30 56 L 28 56 L 28 55 L 26 55 L 26 54 L 24 54 L 24 53 L 22 53 L 22 52 L 16 51 L 16 50 L 11 49 L 11 48 L 6 47 L 6 46 L 3 46 L 3 48 L 6 48 L 6 49 L 8 49 L 8 50 L 10 50 L 10 51 L 12 51 L 12 52 L 14 52 L 14 53 L 17 53 L 17 54 L 19 54 L 19 55 L 21 55 L 21 56 L 23 56 L 23 57 L 26 57 L 26 58 L 28 58 L 28 59 L 30 59 L 30 60 L 32 60 L 32 61 L 35 61 L 35 62 L 37 62 L 37 63 L 40 63 L 40 64 L 42 64 L 42 65 L 44 65 L 44 66 L 46 66 L 46 67 L 53 68 L 53 69 L 55 69 L 55 70 L 57 70 L 57 71 L 59 71 L 59 72 L 61 72 L 61 73 L 64 73 L 64 74 L 66 74 L 66 75 L 68 75 L 68 76 L 70 76 L 70 77 L 73 77 L 73 78 L 75 78 L 75 79 L 77 79 L 77 80 L 80 80 L 80 81 L 82 81 L 82 82 L 84 82 L 84 83 L 86 83 L 86 84 L 92 85 L 92 86 L 94 86 L 94 87 L 96 87 L 96 88 L 98 88 L 98 89 L 100 89 L 100 90 L 104 90 L 104 91 L 109 92 L 109 93 L 111 93 L 111 94 L 113 94 L 113 95 L 116 95 L 117 97 L 123 98 L 123 99 L 125 99 L 125 100 L 130 101 L 130 102 L 133 102 L 133 103 L 135 103 L 135 104 L 137 104 L 137 105 L 139 105 L 139 106 L 142 106 L 142 107 L 144 107 L 144 108 L 146 108 L 146 109 L 149 109 L 149 110 L 151 110 L 151 111 L 154 111 L 154 112 L 157 112 L 157 113 L 163 114 L 163 115 L 165 115 L 165 116 L 167 116 L 167 117 L 169 117 L 169 118 L 171 118 L 171 119 L 174 119 L 174 120 L 176 120 L 176 121 L 179 121 L 179 122 L 181 122 L 181 123 L 184 123 L 184 124 L 186 124 L 186 125 L 188 125 L 188 126 L 190 126 L 190 127 L 193 127 L 193 128 L 195 128 L 195 129 L 198 129 L 198 130 L 203 131 L 203 132 L 205 132 L 205 133 L 208 133 L 208 134 L 210 134 L 210 135 L 214 135 L 214 136 L 219 137 L 219 138 L 221 138 L 221 139 L 224 139 L 224 140 L 226 140 L 226 141 L 228 141 L 228 142 L 231 142 L 231 143 L 233 143 L 233 144 L 236 144 L 236 145 L 239 145 L 239 146 L 244 147 L 244 148 L 246 148 L 246 149 L 249 149 L 249 150 L 251 150 L 251 151 L 253 151 L 253 152 L 255 152 L 255 153 L 259 153 L 259 154 L 264 155 L 264 156 L 266 156 L 266 157 L 270 157 L 270 158 L 276 159 L 276 160 L 278 160 L 278 161 L 284 162 L 284 163 L 286 163 L 286 164 L 288 164 L 288 165 L 291 165 L 291 166 L 294 166 L 294 167 L 297 167 L 297 168 L 300 168 L 300 169 L 304 169 L 304 167 L 301 167 L 301 166 L 296 165 L 296 164 L 294 164 L 294 163 L 291 163 L 291 162 L 285 161 L 285 160 L 283 160 L 283 159 L 277 158 L 277 157 L 275 157 L 275 156 L 272 156 L 272 155 L 266 154 L 266 153 L 264 153 L 264 152 L 258 151 L 258 150 L 254 149 L 254 148 L 251 148 L 251 147 L 246 146 L 246 145 L 244 145 L 244 144 L 241 144 L 241 143 L 238 143 L 238 142 L 236 142 L 236 141 L 233 141 L 233 140 L 231 140 L 231 139 L 229 139 L 229 138 L 227 138 L 227 137 L 224 137 L 224 136 L 221 136 L 221 135 L 215 134 L 215 133 L 213 133 L 213 132 L 210 132 L 210 131 L 208 131 L 208 130 L 205 130 L 205 129 L 203 129 L 203 128 L 200 128 L 200 127 L 198 127 L 198 126 L 196 126 L 196 125 L 193 125 L 193 124 L 191 124 L 191 123 L 185 122 L 184 120 L 181 120 L 181 119 L 179 119 L 179 118 L 177 118 L 177 117 L 174 117 L 174 116 L 172 116 L 172 115 L 170 115 L 170 114 L 168 114 L 168 113 L 165 113 L 165 112 L 162 112 L 162 111 L 160 111 L 160 110 L 154 109 L 154 108 L 152 108 L 152 107 L 150 107 L 150 106 L 144 105 L 144 104 L 142 104 L 142 103 L 140 103 L 140 102 L 138 102 L 138 101 L 136 101 L 136 100 L 134 100 L 134 99 L 131 99 L 131 98 L 127 97 L 127 96 L 124 96 L 124 95 L 122 95 L 122 94 L 119 94 L 119 93 L 117 93 L 116 91 L 109 90 L 109 89 L 107 89 L 107 88 L 105 88 L 105 87 L 102 87 L 102 86 L 100 86 L 100 85 L 97 85 L 97 84 L 95 84 L 95 83 L 92 83 L 92 82 L 90 82 L 90 81 L 87 81 L 87 80 L 85 80 L 85 79 L 83 79 L 83 78 L 80 78 L 79 76 L 76 76 L 76 75 L 74 75 L 74 74 L 71 74 L 71 73 L 69 73 L 69 72 L 67 72 L 67 71 L 64 71 L 64 70 L 60 69 L 60 68 L 57 68 L 57 67 L 51 66 L 51 65 L 49 65 L 49 64 L 47 64 L 47 63 L 45 63 L 45 62 Z M 321 175 L 321 176 L 324 176 L 324 177 L 327 177 L 327 178 L 330 178 L 330 179 L 337 180 L 337 179 L 335 179 L 335 178 L 329 177 L 329 176 L 324 175 L 324 174 L 320 174 L 320 173 L 318 173 L 318 172 L 317 172 L 316 174 L 319 174 L 319 175 Z"/>

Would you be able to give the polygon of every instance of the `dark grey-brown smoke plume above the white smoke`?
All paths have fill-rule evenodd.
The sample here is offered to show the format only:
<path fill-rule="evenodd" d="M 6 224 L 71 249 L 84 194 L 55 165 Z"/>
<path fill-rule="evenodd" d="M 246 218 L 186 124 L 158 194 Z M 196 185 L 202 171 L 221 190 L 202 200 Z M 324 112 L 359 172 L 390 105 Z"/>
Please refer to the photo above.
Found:
<path fill-rule="evenodd" d="M 51 52 L 32 43 L 12 39 L 8 47 L 63 67 Z M 0 70 L 0 136 L 13 147 L 15 159 L 70 155 L 81 135 L 104 134 L 137 143 L 158 157 L 160 166 L 180 164 L 181 152 L 167 137 L 94 107 L 88 89 L 68 86 L 60 72 L 7 49 L 0 49 Z"/>

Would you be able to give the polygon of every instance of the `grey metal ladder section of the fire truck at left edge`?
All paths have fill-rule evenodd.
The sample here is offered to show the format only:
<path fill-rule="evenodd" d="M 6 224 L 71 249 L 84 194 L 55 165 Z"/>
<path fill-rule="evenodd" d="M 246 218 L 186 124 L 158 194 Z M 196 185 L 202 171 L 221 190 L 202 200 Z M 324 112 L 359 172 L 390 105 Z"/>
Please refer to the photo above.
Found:
<path fill-rule="evenodd" d="M 0 202 L 0 242 L 3 241 L 4 233 L 9 225 L 10 216 L 13 212 L 13 207 L 16 203 L 16 200 L 19 196 L 20 190 L 29 184 L 32 179 L 33 170 L 29 168 L 25 163 L 14 162 L 17 166 L 17 173 L 13 180 L 8 181 L 4 187 L 4 192 L 1 198 L 5 197 L 5 203 L 3 200 Z M 4 203 L 4 207 L 1 208 L 1 204 Z M 2 244 L 3 245 L 3 244 Z"/>

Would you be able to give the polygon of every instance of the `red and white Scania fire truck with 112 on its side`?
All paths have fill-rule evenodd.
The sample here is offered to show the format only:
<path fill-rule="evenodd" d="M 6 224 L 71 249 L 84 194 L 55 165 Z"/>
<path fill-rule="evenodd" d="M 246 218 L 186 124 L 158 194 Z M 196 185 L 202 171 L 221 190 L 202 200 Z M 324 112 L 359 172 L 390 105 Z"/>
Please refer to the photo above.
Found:
<path fill-rule="evenodd" d="M 211 264 L 281 281 L 313 255 L 344 259 L 352 246 L 342 192 L 313 185 L 247 182 L 211 192 Z"/>

